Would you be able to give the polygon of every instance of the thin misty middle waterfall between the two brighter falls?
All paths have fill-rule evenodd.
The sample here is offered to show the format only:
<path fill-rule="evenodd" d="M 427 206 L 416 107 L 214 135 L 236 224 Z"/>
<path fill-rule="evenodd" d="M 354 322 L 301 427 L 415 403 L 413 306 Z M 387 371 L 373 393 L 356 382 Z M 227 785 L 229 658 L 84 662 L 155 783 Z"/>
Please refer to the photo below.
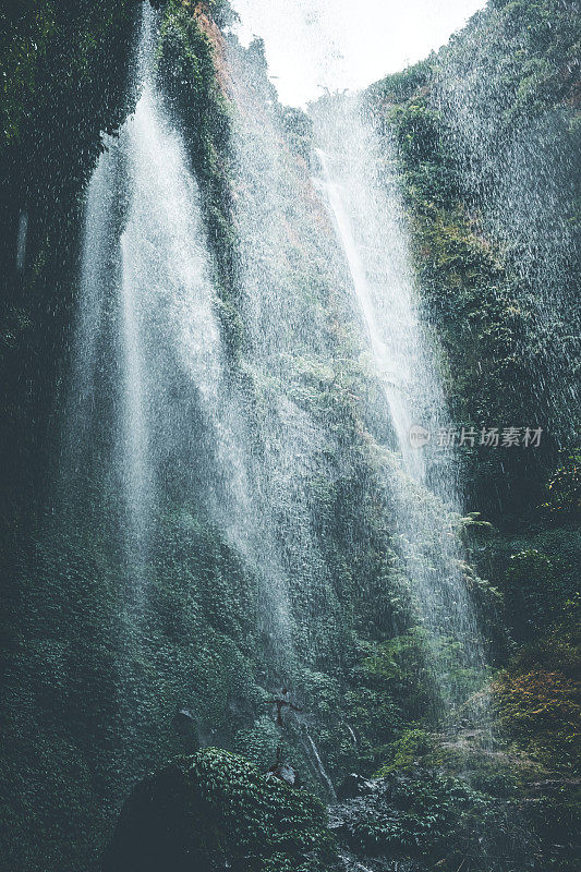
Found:
<path fill-rule="evenodd" d="M 244 372 L 253 385 L 259 452 L 256 498 L 269 530 L 267 560 L 288 592 L 294 649 L 304 664 L 332 646 L 339 614 L 316 533 L 314 484 L 340 474 L 340 460 L 332 458 L 340 459 L 341 451 L 328 422 L 313 409 L 310 385 L 335 378 L 326 295 L 340 279 L 334 261 L 325 261 L 322 210 L 313 210 L 308 178 L 283 144 L 271 90 L 237 44 L 229 46 L 227 61 L 237 109 L 233 221 Z"/>

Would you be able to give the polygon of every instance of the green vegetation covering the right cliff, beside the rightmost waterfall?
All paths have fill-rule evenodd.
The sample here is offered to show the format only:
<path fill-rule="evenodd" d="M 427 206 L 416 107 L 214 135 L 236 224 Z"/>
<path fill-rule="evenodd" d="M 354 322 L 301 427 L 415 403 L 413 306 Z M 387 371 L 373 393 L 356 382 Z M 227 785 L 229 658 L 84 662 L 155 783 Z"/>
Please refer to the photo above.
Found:
<path fill-rule="evenodd" d="M 382 135 L 396 144 L 453 419 L 476 431 L 545 429 L 529 453 L 477 444 L 464 453 L 465 493 L 483 513 L 463 537 L 499 597 L 495 620 L 507 634 L 494 639 L 501 668 L 492 702 L 512 756 L 492 758 L 491 779 L 477 742 L 450 746 L 412 723 L 379 771 L 445 766 L 493 804 L 505 779 L 537 846 L 555 844 L 543 870 L 574 868 L 579 850 L 569 836 L 579 815 L 579 403 L 567 395 L 581 359 L 579 39 L 574 3 L 492 2 L 438 55 L 367 95 Z M 521 210 L 535 222 L 521 223 Z M 375 670 L 380 663 L 375 655 Z M 396 662 L 386 663 L 395 676 Z"/>

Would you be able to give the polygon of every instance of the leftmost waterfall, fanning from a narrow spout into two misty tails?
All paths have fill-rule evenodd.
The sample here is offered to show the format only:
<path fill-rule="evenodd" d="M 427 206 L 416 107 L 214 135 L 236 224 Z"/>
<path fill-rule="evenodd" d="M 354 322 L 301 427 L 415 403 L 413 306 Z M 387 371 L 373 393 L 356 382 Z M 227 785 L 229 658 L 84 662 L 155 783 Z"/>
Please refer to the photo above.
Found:
<path fill-rule="evenodd" d="M 130 601 L 138 606 L 144 595 L 169 475 L 173 487 L 198 494 L 210 521 L 261 579 L 259 619 L 288 667 L 287 594 L 255 497 L 247 423 L 226 378 L 199 191 L 155 85 L 155 36 L 146 4 L 141 97 L 119 140 L 108 141 L 89 185 L 70 450 L 78 465 L 80 434 L 94 436 L 97 396 L 111 393 L 109 450 L 112 486 L 121 488 Z"/>

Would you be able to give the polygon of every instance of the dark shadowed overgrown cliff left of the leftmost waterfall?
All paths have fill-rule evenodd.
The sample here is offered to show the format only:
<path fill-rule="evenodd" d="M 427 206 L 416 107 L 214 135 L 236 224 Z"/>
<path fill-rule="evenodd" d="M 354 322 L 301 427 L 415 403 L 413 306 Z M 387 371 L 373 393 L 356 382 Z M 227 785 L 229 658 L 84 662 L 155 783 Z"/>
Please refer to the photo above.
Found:
<path fill-rule="evenodd" d="M 137 0 L 19 0 L 0 10 L 2 512 L 34 518 L 52 461 L 52 402 L 74 311 L 84 189 L 134 104 Z M 15 265 L 21 217 L 26 268 Z M 12 520 L 14 519 L 14 520 Z"/>

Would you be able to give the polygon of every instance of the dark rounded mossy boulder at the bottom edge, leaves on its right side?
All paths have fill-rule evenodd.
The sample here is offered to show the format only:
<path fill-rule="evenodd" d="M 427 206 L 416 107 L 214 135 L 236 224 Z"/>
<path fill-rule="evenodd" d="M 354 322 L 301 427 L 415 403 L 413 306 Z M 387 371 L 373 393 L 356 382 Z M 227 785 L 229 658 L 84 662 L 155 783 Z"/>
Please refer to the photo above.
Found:
<path fill-rule="evenodd" d="M 133 790 L 104 872 L 331 872 L 323 804 L 267 780 L 244 758 L 205 749 Z"/>

